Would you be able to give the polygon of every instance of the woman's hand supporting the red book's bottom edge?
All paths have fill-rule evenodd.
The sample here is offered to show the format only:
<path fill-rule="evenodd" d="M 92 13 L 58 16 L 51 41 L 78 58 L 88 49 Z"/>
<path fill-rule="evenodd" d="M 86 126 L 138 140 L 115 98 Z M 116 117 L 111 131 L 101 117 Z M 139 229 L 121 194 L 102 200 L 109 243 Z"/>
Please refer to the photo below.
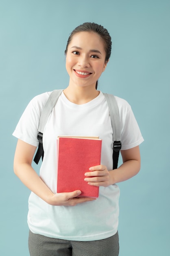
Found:
<path fill-rule="evenodd" d="M 77 198 L 78 195 L 81 195 L 80 190 L 76 190 L 73 192 L 56 193 L 53 194 L 52 197 L 48 200 L 48 204 L 56 206 L 75 206 L 76 204 L 96 200 L 96 198 Z"/>

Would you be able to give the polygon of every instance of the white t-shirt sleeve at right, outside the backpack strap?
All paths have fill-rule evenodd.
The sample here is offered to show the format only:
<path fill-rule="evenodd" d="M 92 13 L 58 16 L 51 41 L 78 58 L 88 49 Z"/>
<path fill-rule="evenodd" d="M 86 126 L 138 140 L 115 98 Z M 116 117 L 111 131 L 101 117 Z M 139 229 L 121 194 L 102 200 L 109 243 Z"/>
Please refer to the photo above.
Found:
<path fill-rule="evenodd" d="M 123 99 L 119 102 L 120 124 L 121 124 L 121 150 L 126 150 L 139 146 L 144 139 L 129 103 Z M 118 103 L 118 105 L 119 105 Z"/>

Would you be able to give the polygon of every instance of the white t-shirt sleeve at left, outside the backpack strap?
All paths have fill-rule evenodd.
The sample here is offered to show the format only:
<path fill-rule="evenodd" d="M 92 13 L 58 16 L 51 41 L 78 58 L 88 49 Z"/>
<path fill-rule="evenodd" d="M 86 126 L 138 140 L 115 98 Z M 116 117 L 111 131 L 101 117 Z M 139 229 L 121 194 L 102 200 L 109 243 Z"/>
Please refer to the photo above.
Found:
<path fill-rule="evenodd" d="M 13 136 L 33 146 L 39 145 L 37 139 L 39 117 L 47 98 L 48 93 L 40 94 L 28 103 L 13 132 Z"/>

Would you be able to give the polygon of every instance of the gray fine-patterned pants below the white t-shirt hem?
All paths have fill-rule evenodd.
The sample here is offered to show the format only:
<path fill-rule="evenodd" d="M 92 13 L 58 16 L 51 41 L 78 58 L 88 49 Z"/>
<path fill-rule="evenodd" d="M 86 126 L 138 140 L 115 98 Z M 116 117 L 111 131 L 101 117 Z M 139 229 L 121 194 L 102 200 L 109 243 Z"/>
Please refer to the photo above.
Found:
<path fill-rule="evenodd" d="M 118 256 L 118 232 L 95 241 L 72 241 L 50 238 L 29 232 L 30 256 Z"/>

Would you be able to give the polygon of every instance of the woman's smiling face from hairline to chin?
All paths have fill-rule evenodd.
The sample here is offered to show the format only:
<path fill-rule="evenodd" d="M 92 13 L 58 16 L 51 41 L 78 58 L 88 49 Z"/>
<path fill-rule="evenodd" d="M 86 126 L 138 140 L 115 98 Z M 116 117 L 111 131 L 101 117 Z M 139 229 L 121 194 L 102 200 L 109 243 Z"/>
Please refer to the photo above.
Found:
<path fill-rule="evenodd" d="M 100 36 L 94 32 L 76 33 L 68 45 L 66 70 L 70 85 L 96 86 L 105 70 L 105 49 Z"/>

